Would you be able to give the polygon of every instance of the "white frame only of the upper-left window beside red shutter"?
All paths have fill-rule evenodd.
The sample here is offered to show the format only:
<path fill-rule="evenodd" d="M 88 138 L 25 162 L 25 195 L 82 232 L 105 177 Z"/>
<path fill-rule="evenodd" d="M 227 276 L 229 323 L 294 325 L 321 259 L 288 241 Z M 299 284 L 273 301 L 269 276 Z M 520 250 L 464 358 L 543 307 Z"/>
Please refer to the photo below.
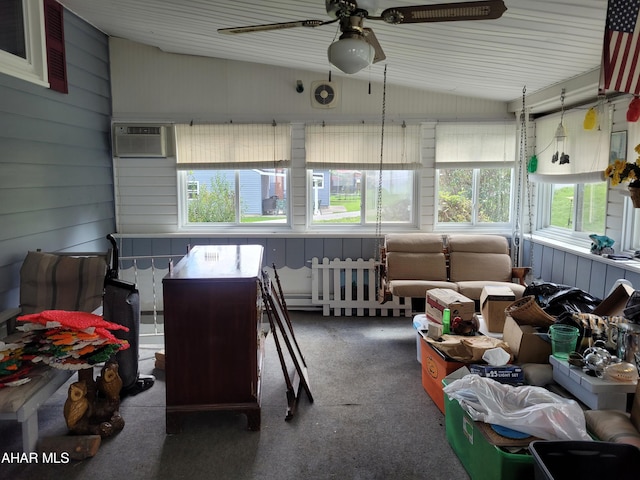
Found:
<path fill-rule="evenodd" d="M 27 58 L 0 50 L 0 72 L 49 88 L 44 3 L 22 0 L 22 8 Z"/>

